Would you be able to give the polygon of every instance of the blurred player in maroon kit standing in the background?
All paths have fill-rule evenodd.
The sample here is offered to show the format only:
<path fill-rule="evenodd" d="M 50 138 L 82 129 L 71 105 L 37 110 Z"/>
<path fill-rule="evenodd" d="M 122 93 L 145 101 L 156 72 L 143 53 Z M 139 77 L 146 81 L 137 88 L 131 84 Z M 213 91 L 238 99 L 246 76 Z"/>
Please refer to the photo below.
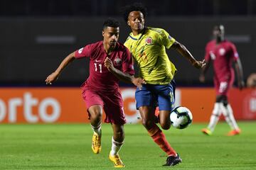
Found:
<path fill-rule="evenodd" d="M 238 74 L 238 87 L 240 89 L 245 86 L 242 77 L 242 64 L 240 62 L 238 52 L 235 45 L 232 42 L 224 39 L 224 26 L 219 25 L 213 28 L 213 36 L 215 40 L 211 40 L 206 45 L 206 67 L 202 69 L 199 80 L 205 81 L 205 74 L 210 66 L 210 62 L 213 62 L 214 69 L 214 86 L 216 90 L 216 101 L 213 108 L 213 113 L 210 116 L 210 123 L 208 128 L 204 128 L 202 132 L 206 135 L 211 135 L 218 123 L 221 113 L 223 113 L 226 122 L 230 125 L 231 131 L 228 135 L 240 134 L 240 128 L 235 122 L 233 110 L 228 103 L 228 91 L 233 85 L 235 79 L 232 62 L 235 62 L 235 69 Z"/>

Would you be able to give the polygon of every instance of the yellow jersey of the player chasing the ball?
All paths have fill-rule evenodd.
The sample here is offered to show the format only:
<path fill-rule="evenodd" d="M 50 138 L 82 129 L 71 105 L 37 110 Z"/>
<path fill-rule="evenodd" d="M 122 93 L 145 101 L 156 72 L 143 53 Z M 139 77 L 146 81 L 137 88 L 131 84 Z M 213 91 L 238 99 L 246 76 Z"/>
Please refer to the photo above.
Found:
<path fill-rule="evenodd" d="M 129 34 L 124 45 L 139 67 L 139 77 L 147 84 L 166 85 L 174 78 L 176 68 L 166 54 L 175 39 L 166 30 L 147 27 L 139 35 Z"/>

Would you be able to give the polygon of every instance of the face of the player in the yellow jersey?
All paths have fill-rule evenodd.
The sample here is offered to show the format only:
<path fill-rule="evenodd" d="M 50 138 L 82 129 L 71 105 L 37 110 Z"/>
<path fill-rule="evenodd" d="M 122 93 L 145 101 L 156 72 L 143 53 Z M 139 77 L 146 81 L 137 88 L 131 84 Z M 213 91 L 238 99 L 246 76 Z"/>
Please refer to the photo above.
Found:
<path fill-rule="evenodd" d="M 127 24 L 132 30 L 140 32 L 144 29 L 144 16 L 140 11 L 132 11 L 129 13 Z"/>

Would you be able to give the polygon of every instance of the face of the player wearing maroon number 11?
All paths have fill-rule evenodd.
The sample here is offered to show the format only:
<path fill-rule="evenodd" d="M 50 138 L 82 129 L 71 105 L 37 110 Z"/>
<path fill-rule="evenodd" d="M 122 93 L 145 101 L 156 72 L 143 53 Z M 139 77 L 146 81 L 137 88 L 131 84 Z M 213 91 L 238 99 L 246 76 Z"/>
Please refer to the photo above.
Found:
<path fill-rule="evenodd" d="M 119 38 L 119 27 L 107 27 L 102 31 L 103 41 L 110 45 L 110 47 L 115 47 L 117 45 L 117 40 Z"/>

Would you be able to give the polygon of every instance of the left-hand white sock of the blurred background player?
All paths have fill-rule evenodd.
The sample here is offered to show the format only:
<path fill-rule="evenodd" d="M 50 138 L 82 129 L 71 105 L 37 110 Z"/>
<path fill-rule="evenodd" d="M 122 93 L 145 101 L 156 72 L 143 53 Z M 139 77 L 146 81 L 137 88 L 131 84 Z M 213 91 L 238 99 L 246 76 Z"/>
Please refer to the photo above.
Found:
<path fill-rule="evenodd" d="M 220 118 L 220 114 L 221 114 L 220 106 L 221 106 L 221 103 L 214 104 L 213 113 L 212 115 L 210 115 L 210 123 L 208 125 L 208 129 L 210 130 L 210 132 L 213 132 Z"/>

